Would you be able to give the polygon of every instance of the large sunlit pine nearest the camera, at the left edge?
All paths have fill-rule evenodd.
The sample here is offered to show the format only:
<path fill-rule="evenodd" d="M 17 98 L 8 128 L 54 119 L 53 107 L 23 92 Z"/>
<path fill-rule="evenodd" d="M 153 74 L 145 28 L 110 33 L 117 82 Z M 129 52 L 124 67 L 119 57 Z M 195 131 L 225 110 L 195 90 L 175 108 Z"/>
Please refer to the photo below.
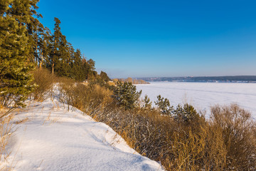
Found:
<path fill-rule="evenodd" d="M 26 26 L 20 17 L 9 13 L 14 8 L 9 3 L 1 1 L 0 4 L 0 103 L 17 107 L 24 106 L 23 101 L 34 87 L 29 86 L 33 63 L 28 60 Z M 15 8 L 18 7 L 16 4 Z"/>

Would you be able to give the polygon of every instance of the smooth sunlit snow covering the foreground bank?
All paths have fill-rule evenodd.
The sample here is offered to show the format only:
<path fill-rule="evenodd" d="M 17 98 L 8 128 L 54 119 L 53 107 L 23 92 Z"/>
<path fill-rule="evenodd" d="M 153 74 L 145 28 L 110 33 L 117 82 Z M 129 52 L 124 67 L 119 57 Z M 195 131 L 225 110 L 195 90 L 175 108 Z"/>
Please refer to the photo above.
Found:
<path fill-rule="evenodd" d="M 8 164 L 14 170 L 162 170 L 104 123 L 58 102 L 16 112 Z"/>

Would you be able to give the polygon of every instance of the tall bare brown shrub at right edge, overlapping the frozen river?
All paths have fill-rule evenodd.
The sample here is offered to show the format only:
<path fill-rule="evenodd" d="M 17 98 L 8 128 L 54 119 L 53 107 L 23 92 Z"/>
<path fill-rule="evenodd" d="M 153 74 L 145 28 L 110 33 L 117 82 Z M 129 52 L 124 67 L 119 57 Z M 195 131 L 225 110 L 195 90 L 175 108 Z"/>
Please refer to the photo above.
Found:
<path fill-rule="evenodd" d="M 211 124 L 221 130 L 227 150 L 225 170 L 256 170 L 256 123 L 238 105 L 215 105 Z"/>

